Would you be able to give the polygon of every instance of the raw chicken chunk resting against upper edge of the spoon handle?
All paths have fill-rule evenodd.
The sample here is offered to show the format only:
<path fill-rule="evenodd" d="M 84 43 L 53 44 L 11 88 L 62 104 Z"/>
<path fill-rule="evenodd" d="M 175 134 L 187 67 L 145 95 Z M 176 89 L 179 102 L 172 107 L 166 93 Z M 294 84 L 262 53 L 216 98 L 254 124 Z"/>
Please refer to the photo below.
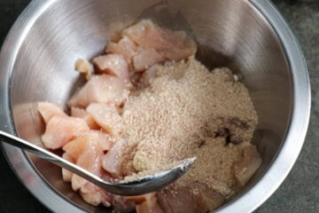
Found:
<path fill-rule="evenodd" d="M 42 136 L 43 144 L 47 148 L 58 149 L 88 130 L 87 123 L 81 118 L 54 115 Z"/>

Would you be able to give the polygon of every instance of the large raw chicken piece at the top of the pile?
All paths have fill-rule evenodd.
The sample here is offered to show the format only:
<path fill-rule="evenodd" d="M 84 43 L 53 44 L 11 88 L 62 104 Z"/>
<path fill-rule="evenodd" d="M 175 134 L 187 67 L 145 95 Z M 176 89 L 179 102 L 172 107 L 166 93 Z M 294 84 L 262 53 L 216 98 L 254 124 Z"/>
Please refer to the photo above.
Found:
<path fill-rule="evenodd" d="M 184 32 L 159 28 L 151 20 L 142 20 L 125 29 L 122 36 L 119 43 L 110 43 L 106 51 L 123 55 L 135 72 L 167 59 L 187 59 L 197 50 L 196 43 Z"/>

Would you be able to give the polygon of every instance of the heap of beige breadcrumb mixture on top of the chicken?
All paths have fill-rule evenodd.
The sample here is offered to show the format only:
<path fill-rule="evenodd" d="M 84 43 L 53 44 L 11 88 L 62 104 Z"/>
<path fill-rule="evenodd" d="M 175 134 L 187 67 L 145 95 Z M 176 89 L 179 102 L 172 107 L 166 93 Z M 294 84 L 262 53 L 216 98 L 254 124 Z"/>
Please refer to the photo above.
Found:
<path fill-rule="evenodd" d="M 199 181 L 231 194 L 233 164 L 243 147 L 251 146 L 257 124 L 244 84 L 234 80 L 229 68 L 209 72 L 193 57 L 156 65 L 152 72 L 150 86 L 130 96 L 123 109 L 128 145 L 122 152 L 131 151 L 127 174 L 196 156 L 175 185 Z"/>

